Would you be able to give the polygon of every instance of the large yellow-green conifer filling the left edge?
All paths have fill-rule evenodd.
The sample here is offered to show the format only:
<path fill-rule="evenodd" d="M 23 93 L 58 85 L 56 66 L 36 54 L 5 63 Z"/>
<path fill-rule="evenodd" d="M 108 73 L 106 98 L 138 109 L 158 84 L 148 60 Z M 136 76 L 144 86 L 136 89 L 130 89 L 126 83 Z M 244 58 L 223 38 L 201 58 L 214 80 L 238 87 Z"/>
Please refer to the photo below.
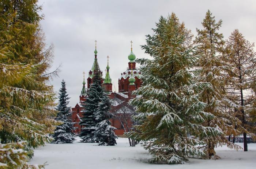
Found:
<path fill-rule="evenodd" d="M 53 87 L 47 73 L 53 47 L 45 48 L 37 0 L 0 1 L 0 165 L 27 164 L 31 148 L 50 141 L 56 122 Z M 39 166 L 42 167 L 42 166 Z"/>

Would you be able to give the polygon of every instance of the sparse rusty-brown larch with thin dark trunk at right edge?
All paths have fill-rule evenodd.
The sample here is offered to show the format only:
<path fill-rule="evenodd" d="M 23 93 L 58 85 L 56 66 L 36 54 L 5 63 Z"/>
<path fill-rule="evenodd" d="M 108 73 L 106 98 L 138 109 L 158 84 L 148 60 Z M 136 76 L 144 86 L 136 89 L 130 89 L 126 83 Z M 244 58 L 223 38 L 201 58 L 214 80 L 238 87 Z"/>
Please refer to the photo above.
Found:
<path fill-rule="evenodd" d="M 229 81 L 230 100 L 237 107 L 234 114 L 242 121 L 237 125 L 244 135 L 244 151 L 247 151 L 247 134 L 254 128 L 252 125 L 255 114 L 255 86 L 256 79 L 255 58 L 256 52 L 253 50 L 254 44 L 247 41 L 244 36 L 234 30 L 227 40 L 228 57 L 225 61 L 230 65 L 232 74 Z"/>

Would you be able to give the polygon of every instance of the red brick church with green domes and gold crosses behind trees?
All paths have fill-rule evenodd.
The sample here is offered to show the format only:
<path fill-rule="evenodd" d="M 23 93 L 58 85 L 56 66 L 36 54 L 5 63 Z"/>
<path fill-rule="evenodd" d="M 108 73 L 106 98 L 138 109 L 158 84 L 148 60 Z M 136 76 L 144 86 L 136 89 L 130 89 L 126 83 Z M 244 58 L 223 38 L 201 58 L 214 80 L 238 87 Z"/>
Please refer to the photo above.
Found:
<path fill-rule="evenodd" d="M 118 79 L 118 92 L 112 91 L 112 79 L 110 78 L 109 72 L 109 56 L 108 63 L 106 66 L 106 75 L 105 78 L 103 77 L 102 71 L 99 67 L 98 60 L 97 60 L 97 46 L 95 40 L 95 51 L 94 51 L 94 62 L 91 70 L 89 71 L 88 78 L 87 78 L 87 87 L 86 81 L 83 77 L 83 86 L 82 91 L 79 96 L 79 103 L 72 107 L 72 115 L 71 119 L 74 122 L 74 130 L 75 133 L 79 134 L 81 132 L 81 126 L 79 125 L 80 118 L 83 117 L 83 102 L 86 101 L 87 98 L 87 89 L 90 88 L 90 85 L 93 83 L 94 75 L 98 70 L 101 75 L 101 84 L 105 87 L 106 92 L 111 101 L 111 109 L 110 112 L 114 114 L 114 117 L 110 119 L 112 126 L 116 127 L 114 132 L 118 136 L 122 136 L 124 132 L 128 132 L 132 126 L 131 115 L 134 112 L 132 106 L 128 105 L 128 101 L 136 96 L 132 95 L 132 91 L 136 90 L 142 84 L 141 80 L 141 73 L 136 68 L 136 56 L 132 52 L 132 41 L 131 41 L 131 53 L 128 55 L 128 67 L 124 72 L 121 73 Z M 84 72 L 83 72 L 84 74 Z"/>

